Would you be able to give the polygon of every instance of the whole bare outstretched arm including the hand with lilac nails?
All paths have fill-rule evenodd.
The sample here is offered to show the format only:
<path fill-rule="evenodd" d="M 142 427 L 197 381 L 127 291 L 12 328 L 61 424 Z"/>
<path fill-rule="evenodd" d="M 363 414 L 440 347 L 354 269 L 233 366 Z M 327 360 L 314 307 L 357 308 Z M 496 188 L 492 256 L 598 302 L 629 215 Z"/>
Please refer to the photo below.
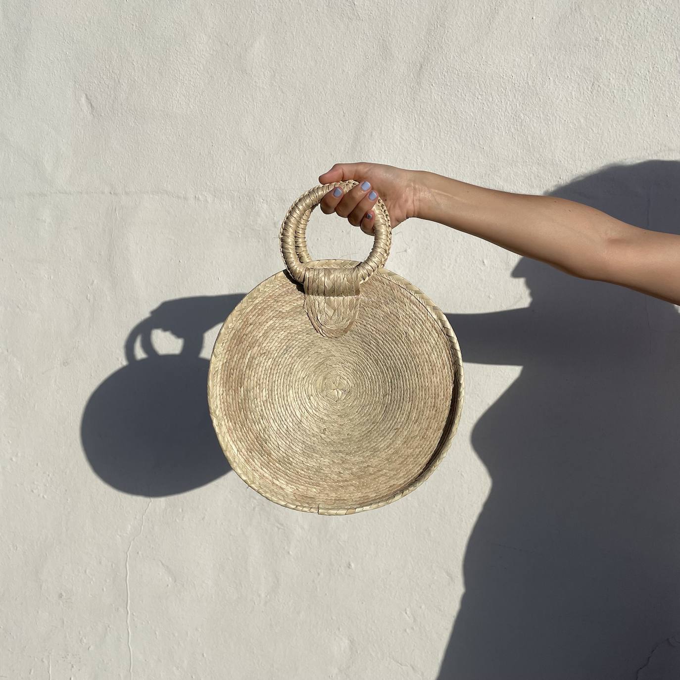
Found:
<path fill-rule="evenodd" d="M 605 281 L 680 305 L 680 236 L 626 224 L 588 205 L 486 189 L 426 170 L 336 163 L 320 182 L 357 180 L 320 205 L 373 232 L 379 196 L 392 227 L 417 217 L 541 260 L 582 279 Z M 680 219 L 680 216 L 679 216 Z"/>

